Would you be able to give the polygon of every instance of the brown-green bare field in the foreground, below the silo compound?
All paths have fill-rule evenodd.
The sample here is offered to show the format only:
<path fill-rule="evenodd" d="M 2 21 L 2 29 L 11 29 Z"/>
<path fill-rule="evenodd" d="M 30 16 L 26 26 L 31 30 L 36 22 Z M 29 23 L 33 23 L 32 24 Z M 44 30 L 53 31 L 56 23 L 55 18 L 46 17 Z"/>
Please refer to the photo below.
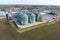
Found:
<path fill-rule="evenodd" d="M 19 33 L 5 19 L 0 21 L 0 40 L 60 40 L 60 21 Z"/>

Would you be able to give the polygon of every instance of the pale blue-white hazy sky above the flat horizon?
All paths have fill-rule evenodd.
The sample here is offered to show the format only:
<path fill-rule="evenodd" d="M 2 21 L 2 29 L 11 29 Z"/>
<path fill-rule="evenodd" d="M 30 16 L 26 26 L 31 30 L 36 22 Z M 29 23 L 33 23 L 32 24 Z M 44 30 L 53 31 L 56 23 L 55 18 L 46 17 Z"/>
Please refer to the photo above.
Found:
<path fill-rule="evenodd" d="M 60 5 L 60 0 L 0 0 L 0 5 L 3 4 Z"/>

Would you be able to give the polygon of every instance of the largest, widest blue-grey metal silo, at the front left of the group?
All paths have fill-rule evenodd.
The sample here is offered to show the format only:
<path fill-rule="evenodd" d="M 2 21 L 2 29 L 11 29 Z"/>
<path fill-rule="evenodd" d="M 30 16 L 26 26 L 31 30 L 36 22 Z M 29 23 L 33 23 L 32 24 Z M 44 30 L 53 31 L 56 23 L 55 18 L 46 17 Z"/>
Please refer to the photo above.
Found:
<path fill-rule="evenodd" d="M 22 25 L 28 24 L 28 15 L 26 15 L 24 13 L 19 14 L 17 21 Z"/>

